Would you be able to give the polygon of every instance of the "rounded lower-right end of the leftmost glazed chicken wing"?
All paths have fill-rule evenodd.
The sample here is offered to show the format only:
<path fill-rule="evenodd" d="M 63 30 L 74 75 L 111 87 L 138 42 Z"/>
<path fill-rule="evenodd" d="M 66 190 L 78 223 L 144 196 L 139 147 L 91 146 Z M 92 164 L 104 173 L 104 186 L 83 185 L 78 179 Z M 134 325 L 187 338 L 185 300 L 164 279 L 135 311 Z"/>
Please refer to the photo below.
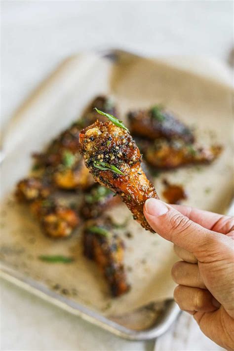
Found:
<path fill-rule="evenodd" d="M 44 233 L 52 238 L 68 237 L 79 224 L 78 215 L 54 199 L 38 199 L 30 204 L 32 213 L 39 219 Z"/>

